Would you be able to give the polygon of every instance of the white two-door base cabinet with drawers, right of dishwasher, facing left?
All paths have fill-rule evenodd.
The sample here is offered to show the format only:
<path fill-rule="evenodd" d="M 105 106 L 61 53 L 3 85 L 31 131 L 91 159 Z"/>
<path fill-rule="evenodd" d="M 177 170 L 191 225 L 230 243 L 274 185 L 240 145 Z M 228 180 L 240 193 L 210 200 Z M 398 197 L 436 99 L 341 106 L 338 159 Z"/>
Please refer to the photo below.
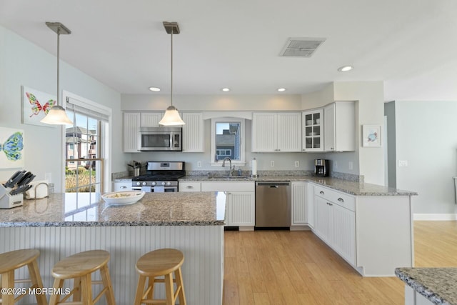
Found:
<path fill-rule="evenodd" d="M 353 197 L 314 187 L 315 233 L 349 264 L 356 266 L 356 213 Z"/>

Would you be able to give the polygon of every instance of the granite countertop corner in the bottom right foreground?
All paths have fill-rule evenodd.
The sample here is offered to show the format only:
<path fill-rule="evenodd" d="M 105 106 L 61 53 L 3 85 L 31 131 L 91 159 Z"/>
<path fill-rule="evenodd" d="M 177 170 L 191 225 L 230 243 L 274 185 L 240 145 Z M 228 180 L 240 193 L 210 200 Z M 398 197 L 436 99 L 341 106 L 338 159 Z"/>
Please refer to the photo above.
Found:
<path fill-rule="evenodd" d="M 433 304 L 457 305 L 457 268 L 397 268 L 395 274 Z"/>

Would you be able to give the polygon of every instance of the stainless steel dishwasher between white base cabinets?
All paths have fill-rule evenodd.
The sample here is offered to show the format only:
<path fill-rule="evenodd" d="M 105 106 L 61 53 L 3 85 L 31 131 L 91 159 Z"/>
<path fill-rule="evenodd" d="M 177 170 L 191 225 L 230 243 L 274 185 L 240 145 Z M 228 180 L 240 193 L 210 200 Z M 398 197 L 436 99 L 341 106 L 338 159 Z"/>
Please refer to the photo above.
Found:
<path fill-rule="evenodd" d="M 256 182 L 256 227 L 291 226 L 291 182 Z"/>

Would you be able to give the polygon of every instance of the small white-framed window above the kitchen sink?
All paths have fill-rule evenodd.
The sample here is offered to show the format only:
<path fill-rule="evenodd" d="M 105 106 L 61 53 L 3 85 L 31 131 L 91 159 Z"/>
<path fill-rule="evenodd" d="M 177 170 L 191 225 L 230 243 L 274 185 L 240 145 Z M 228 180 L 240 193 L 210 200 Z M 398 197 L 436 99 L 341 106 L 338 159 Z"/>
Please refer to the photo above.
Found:
<path fill-rule="evenodd" d="M 227 157 L 244 165 L 244 119 L 211 119 L 211 165 L 221 166 Z"/>

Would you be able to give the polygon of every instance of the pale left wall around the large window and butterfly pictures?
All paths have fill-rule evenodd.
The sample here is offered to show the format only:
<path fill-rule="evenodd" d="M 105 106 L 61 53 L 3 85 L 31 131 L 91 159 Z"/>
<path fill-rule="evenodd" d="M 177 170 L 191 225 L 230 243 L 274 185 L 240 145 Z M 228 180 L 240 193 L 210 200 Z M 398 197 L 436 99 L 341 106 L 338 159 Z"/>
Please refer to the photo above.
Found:
<path fill-rule="evenodd" d="M 71 35 L 65 39 L 71 39 Z M 87 56 L 91 56 L 90 50 Z M 61 39 L 61 54 L 65 44 Z M 44 179 L 45 173 L 52 174 L 55 190 L 61 191 L 61 132 L 60 126 L 46 127 L 21 124 L 21 85 L 46 93 L 56 93 L 56 56 L 0 26 L 0 126 L 23 129 L 24 169 Z M 92 79 L 64 61 L 60 65 L 60 89 L 83 96 L 113 109 L 113 132 L 121 134 L 121 96 L 115 90 Z M 124 158 L 122 139 L 113 137 L 111 169 L 123 171 Z M 0 152 L 2 153 L 2 152 Z M 4 181 L 16 169 L 0 169 L 0 181 Z"/>

